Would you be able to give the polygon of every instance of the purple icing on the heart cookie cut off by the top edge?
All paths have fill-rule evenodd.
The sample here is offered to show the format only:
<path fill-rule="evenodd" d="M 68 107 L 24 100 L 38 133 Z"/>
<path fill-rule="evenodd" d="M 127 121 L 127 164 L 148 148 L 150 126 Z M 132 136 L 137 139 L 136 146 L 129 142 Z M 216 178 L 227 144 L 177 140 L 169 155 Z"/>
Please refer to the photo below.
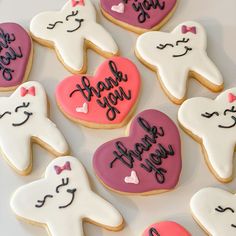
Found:
<path fill-rule="evenodd" d="M 177 0 L 100 0 L 102 9 L 118 21 L 151 29 L 159 25 L 176 6 Z M 124 11 L 114 11 L 114 6 L 124 4 Z"/>

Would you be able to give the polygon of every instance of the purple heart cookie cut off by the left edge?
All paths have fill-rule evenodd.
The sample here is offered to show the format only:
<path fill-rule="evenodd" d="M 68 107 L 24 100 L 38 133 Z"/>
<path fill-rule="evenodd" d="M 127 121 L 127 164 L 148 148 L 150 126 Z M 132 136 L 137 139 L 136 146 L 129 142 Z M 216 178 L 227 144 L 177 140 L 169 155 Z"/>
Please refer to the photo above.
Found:
<path fill-rule="evenodd" d="M 14 89 L 27 79 L 32 51 L 25 29 L 15 23 L 0 24 L 0 91 Z"/>

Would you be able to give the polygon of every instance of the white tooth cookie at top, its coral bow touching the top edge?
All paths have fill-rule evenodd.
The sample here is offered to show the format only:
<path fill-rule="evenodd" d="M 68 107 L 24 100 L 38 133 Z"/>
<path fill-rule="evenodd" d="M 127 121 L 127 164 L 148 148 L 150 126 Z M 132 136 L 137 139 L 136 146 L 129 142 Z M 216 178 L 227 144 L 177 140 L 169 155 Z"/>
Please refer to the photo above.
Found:
<path fill-rule="evenodd" d="M 60 61 L 72 73 L 86 72 L 86 49 L 105 57 L 118 54 L 111 35 L 96 22 L 96 10 L 90 0 L 68 0 L 61 11 L 43 12 L 30 24 L 33 38 L 54 47 Z"/>

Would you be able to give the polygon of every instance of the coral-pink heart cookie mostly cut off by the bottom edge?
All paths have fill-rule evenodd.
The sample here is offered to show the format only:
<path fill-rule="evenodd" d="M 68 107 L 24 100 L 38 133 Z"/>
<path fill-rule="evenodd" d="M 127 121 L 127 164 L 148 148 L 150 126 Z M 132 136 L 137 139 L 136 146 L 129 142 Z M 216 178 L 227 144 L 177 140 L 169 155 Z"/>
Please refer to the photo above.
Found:
<path fill-rule="evenodd" d="M 191 236 L 191 234 L 175 222 L 163 221 L 148 227 L 142 236 Z"/>

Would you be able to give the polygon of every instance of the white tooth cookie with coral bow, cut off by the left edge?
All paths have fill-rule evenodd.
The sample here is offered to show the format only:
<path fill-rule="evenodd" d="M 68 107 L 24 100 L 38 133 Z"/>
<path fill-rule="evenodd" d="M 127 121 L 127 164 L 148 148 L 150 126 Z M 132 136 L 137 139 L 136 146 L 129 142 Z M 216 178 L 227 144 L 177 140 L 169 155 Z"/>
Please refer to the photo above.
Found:
<path fill-rule="evenodd" d="M 48 119 L 48 102 L 38 82 L 22 84 L 10 97 L 0 97 L 0 147 L 7 162 L 19 174 L 32 169 L 32 143 L 55 155 L 68 152 L 65 138 Z"/>

